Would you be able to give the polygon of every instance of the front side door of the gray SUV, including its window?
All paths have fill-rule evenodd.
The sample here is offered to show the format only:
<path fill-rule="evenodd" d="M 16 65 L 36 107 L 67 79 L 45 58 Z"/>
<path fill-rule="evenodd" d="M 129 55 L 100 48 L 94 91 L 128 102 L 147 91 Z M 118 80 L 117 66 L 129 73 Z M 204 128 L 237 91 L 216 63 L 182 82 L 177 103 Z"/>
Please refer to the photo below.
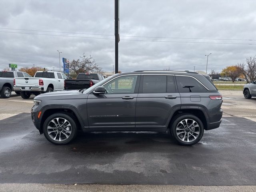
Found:
<path fill-rule="evenodd" d="M 87 100 L 90 129 L 135 128 L 139 75 L 124 75 L 105 83 L 105 94 Z"/>

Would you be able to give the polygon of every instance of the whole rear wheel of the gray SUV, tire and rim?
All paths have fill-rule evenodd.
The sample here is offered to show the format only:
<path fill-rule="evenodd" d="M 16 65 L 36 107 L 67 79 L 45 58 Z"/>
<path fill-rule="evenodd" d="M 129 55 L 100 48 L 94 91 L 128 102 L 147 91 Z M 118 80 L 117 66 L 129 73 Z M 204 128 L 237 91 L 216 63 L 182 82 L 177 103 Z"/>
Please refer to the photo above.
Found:
<path fill-rule="evenodd" d="M 181 114 L 175 117 L 171 132 L 178 144 L 194 145 L 201 140 L 204 125 L 198 117 L 192 114 Z"/>

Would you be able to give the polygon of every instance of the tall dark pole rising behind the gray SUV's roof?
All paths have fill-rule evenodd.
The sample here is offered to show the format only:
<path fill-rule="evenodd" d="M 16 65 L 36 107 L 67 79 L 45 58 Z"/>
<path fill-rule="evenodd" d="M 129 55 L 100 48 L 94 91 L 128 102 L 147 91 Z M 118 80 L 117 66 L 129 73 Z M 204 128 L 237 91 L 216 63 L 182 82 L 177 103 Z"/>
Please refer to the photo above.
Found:
<path fill-rule="evenodd" d="M 115 72 L 118 73 L 119 0 L 115 1 Z"/>

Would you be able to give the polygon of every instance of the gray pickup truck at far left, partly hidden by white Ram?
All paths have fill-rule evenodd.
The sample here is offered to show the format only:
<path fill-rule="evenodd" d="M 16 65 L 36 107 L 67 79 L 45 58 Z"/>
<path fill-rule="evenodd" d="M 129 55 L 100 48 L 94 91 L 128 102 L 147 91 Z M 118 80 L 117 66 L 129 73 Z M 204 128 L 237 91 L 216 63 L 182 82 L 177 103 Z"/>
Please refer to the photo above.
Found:
<path fill-rule="evenodd" d="M 29 74 L 20 71 L 0 71 L 0 95 L 2 98 L 9 98 L 13 91 L 14 77 L 31 77 Z M 20 92 L 15 92 L 20 94 Z"/>

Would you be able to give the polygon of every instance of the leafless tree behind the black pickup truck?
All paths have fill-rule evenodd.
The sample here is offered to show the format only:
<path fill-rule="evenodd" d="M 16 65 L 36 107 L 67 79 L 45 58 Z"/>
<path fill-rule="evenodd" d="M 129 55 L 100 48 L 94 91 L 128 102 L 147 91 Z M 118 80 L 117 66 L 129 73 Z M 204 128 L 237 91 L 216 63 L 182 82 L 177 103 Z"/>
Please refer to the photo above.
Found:
<path fill-rule="evenodd" d="M 89 73 L 89 72 L 95 72 L 99 69 L 98 64 L 96 64 L 94 58 L 92 56 L 87 57 L 84 53 L 82 56 L 80 56 L 80 59 L 73 60 L 69 68 L 71 71 L 78 73 Z"/>

